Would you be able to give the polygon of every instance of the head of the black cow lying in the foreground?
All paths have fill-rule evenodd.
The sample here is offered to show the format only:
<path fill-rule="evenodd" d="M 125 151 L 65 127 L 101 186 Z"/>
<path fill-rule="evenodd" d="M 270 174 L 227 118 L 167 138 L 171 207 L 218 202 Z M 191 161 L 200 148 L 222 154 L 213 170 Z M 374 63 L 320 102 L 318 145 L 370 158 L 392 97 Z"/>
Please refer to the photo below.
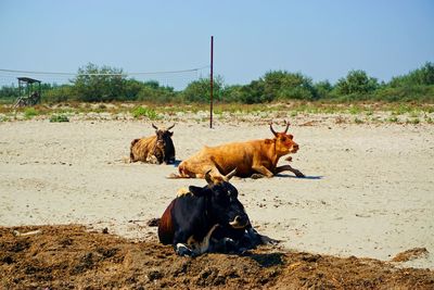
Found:
<path fill-rule="evenodd" d="M 250 225 L 248 216 L 244 206 L 238 200 L 238 190 L 229 184 L 229 179 L 234 176 L 237 168 L 226 176 L 210 176 L 210 171 L 205 174 L 208 182 L 207 189 L 191 186 L 190 192 L 194 196 L 207 194 L 208 214 L 216 224 L 221 227 L 245 228 Z"/>

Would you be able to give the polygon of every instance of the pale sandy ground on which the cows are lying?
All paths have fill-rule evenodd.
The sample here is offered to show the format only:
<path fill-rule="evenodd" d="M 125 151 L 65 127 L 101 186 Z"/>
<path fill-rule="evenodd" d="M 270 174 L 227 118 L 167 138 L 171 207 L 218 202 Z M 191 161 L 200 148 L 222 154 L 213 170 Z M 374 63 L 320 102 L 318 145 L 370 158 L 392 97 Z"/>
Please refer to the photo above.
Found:
<path fill-rule="evenodd" d="M 270 138 L 266 122 L 179 122 L 177 160 L 204 144 Z M 426 248 L 404 266 L 433 269 L 434 126 L 301 125 L 290 129 L 301 147 L 292 166 L 306 178 L 232 179 L 258 231 L 295 251 L 383 261 Z M 205 182 L 166 179 L 171 165 L 125 163 L 130 141 L 152 134 L 148 121 L 0 123 L 0 226 L 78 223 L 155 240 L 146 220 L 178 188 Z"/>

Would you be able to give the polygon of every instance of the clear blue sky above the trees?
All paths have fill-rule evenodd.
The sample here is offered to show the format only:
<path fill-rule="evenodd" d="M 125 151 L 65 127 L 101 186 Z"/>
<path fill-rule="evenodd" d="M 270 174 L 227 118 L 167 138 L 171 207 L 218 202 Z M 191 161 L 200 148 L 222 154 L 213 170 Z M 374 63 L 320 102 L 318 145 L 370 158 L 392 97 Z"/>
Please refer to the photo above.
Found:
<path fill-rule="evenodd" d="M 434 62 L 432 0 L 0 0 L 0 31 L 3 70 L 202 67 L 212 35 L 227 85 L 273 70 L 332 83 L 363 70 L 387 81 Z"/>

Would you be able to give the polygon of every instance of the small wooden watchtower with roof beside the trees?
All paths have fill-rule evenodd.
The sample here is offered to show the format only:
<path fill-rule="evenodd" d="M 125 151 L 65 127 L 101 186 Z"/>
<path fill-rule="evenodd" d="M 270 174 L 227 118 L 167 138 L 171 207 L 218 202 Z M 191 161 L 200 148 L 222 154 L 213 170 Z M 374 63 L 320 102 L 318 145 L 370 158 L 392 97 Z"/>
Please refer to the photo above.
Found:
<path fill-rule="evenodd" d="M 17 77 L 20 97 L 16 99 L 14 108 L 35 105 L 41 100 L 41 81 L 29 77 Z"/>

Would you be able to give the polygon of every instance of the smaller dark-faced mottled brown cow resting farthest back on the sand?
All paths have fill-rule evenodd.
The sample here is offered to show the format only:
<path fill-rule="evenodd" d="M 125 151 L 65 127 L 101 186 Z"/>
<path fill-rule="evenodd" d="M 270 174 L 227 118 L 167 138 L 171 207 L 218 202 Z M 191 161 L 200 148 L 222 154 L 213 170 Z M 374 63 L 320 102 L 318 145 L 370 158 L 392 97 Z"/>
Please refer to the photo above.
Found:
<path fill-rule="evenodd" d="M 171 141 L 173 131 L 169 131 L 171 125 L 167 129 L 158 129 L 154 124 L 152 127 L 155 129 L 155 136 L 143 137 L 131 141 L 130 147 L 130 162 L 142 161 L 153 164 L 175 163 L 175 147 Z"/>

